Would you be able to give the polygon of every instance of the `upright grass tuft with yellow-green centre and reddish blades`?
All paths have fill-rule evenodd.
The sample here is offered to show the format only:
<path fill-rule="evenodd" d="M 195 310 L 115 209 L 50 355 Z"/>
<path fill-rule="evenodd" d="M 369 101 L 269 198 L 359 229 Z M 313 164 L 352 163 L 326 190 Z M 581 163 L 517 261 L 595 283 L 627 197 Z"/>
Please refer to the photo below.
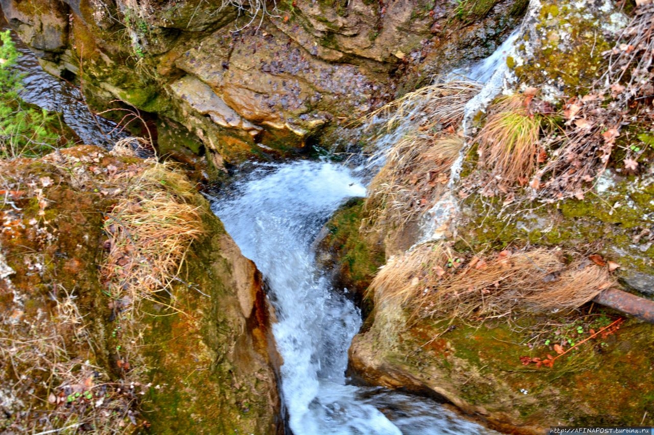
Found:
<path fill-rule="evenodd" d="M 479 164 L 489 170 L 492 187 L 526 184 L 537 168 L 541 125 L 547 119 L 526 110 L 525 97 L 512 95 L 500 99 L 491 108 L 483 128 L 477 134 Z"/>

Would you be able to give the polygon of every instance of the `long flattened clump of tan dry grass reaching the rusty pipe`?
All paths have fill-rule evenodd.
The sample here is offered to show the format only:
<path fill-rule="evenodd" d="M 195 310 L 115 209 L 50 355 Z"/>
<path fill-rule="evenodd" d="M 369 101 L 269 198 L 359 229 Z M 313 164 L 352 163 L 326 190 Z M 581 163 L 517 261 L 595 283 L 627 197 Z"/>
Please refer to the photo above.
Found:
<path fill-rule="evenodd" d="M 614 284 L 608 269 L 586 259 L 566 265 L 553 249 L 465 259 L 438 243 L 389 261 L 370 291 L 377 300 L 400 303 L 417 317 L 486 319 L 517 310 L 577 308 Z"/>

